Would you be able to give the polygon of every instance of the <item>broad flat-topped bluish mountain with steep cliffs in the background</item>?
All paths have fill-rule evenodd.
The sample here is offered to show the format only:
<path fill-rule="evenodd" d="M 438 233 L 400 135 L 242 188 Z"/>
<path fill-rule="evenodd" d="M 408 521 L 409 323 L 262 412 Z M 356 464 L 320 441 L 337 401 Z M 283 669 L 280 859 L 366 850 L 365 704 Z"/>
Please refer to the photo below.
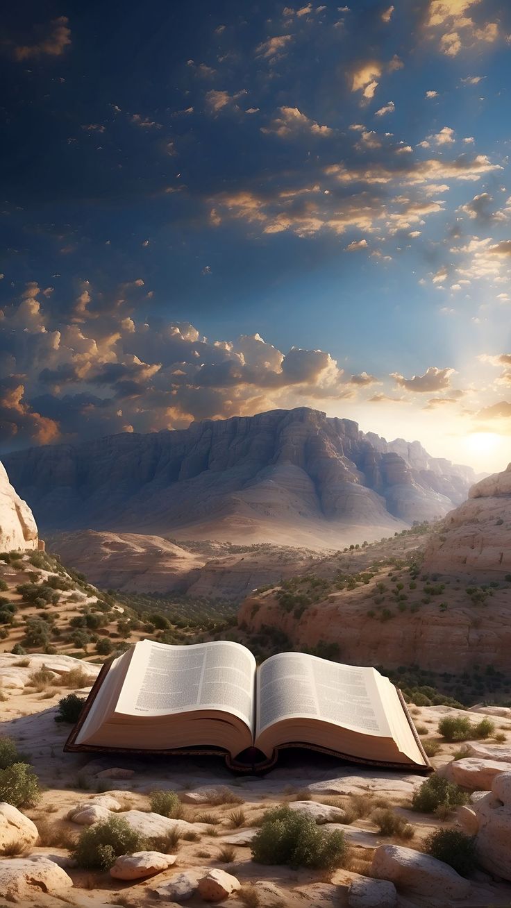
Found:
<path fill-rule="evenodd" d="M 207 419 L 5 458 L 40 528 L 339 548 L 443 517 L 472 471 L 319 410 Z"/>

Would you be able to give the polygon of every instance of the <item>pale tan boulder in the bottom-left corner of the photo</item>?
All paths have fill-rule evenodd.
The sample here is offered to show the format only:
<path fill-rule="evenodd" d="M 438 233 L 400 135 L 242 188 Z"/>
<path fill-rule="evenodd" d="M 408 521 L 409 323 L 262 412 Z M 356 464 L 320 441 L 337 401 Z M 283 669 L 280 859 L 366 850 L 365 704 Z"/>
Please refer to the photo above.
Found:
<path fill-rule="evenodd" d="M 0 861 L 0 893 L 7 902 L 37 904 L 41 893 L 59 896 L 73 880 L 46 857 L 5 858 Z"/>

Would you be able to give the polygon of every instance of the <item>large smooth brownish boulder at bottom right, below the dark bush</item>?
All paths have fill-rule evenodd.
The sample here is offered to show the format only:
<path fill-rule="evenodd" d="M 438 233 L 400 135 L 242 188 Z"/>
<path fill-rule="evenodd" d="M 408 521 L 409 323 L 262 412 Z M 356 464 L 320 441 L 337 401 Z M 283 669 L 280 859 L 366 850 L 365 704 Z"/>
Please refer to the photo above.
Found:
<path fill-rule="evenodd" d="M 398 890 L 433 898 L 464 898 L 470 883 L 456 870 L 402 845 L 379 845 L 371 864 L 371 873 L 378 880 L 394 883 Z"/>

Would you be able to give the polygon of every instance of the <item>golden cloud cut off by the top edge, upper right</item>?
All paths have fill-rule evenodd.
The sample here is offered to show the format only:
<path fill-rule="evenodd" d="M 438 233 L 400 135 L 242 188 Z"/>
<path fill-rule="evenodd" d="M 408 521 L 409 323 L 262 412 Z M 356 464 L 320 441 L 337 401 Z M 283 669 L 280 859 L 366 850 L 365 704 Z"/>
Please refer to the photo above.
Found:
<path fill-rule="evenodd" d="M 424 22 L 425 34 L 437 40 L 438 50 L 457 56 L 463 49 L 496 41 L 496 22 L 478 25 L 472 17 L 481 0 L 429 0 Z"/>

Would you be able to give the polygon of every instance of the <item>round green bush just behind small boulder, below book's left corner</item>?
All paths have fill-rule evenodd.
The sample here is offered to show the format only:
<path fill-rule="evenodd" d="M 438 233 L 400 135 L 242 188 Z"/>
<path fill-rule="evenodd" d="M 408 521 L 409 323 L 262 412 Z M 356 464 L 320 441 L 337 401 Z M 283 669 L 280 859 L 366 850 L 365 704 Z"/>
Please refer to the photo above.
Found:
<path fill-rule="evenodd" d="M 120 854 L 142 851 L 145 842 L 120 816 L 84 829 L 71 856 L 84 870 L 110 870 Z"/>

